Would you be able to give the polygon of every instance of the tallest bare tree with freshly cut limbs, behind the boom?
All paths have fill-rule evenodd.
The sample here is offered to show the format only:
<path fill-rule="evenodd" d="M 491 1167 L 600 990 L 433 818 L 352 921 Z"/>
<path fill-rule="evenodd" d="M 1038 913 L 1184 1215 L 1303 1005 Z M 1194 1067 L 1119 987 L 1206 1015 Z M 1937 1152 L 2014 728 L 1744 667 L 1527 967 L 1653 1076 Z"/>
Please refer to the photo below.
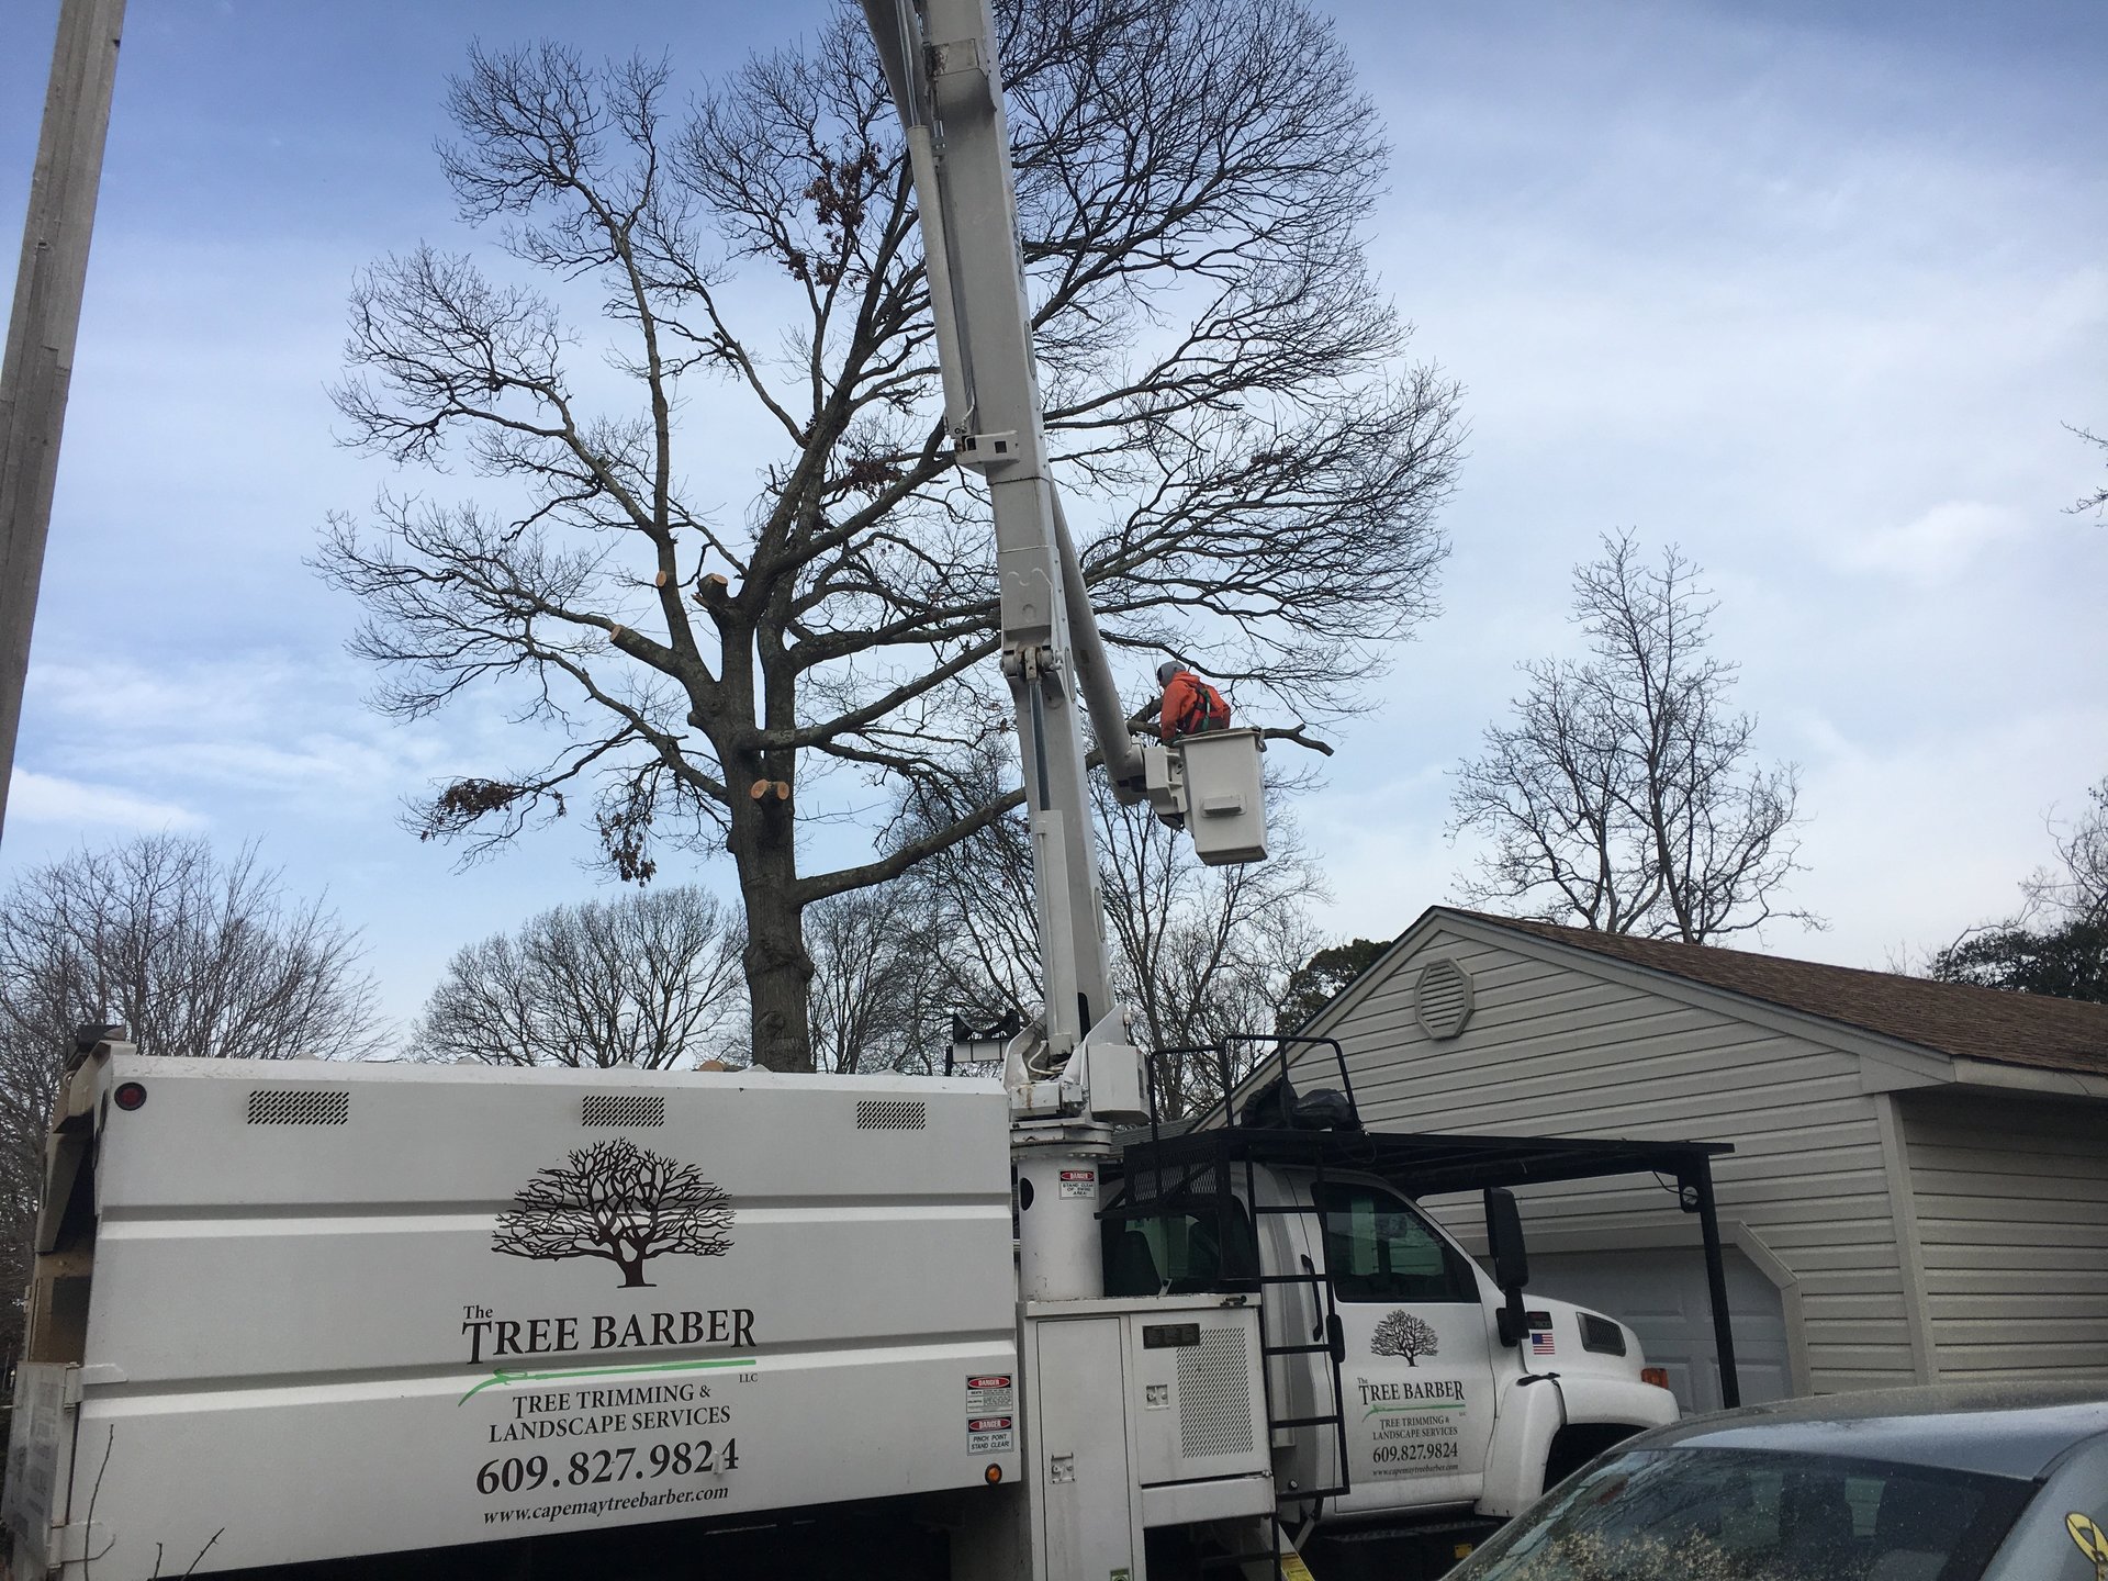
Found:
<path fill-rule="evenodd" d="M 1301 738 L 1427 611 L 1461 436 L 1455 386 L 1400 365 L 1355 234 L 1374 112 L 1301 0 L 997 11 L 1046 419 L 1109 639 L 1136 679 L 1176 651 Z M 681 124 L 672 93 L 662 63 L 470 57 L 445 148 L 464 219 L 554 291 L 599 291 L 607 329 L 582 344 L 516 270 L 375 264 L 337 390 L 348 443 L 457 464 L 485 497 L 384 495 L 320 565 L 367 605 L 356 651 L 388 668 L 386 710 L 500 685 L 557 740 L 438 788 L 415 826 L 474 854 L 584 788 L 622 877 L 662 845 L 727 852 L 755 1058 L 803 1069 L 805 909 L 1016 803 L 1012 769 L 871 860 L 801 854 L 828 772 L 957 782 L 1010 729 L 995 567 L 978 483 L 951 466 L 913 190 L 856 8 Z M 594 354 L 618 392 L 575 375 Z M 776 445 L 721 512 L 727 405 Z"/>

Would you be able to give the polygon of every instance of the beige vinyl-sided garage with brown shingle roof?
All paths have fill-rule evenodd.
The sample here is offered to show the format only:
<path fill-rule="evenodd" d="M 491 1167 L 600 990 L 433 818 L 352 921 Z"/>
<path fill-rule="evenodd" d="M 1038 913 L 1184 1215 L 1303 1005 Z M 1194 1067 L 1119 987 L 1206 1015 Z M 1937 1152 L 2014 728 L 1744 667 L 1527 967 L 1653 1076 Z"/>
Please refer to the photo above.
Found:
<path fill-rule="evenodd" d="M 1722 1140 L 1743 1400 L 2108 1381 L 2108 1006 L 1436 906 L 1305 1029 L 1381 1130 Z M 1296 1062 L 1324 1086 L 1330 1052 Z M 1697 1221 L 1518 1193 L 1530 1290 L 1718 1404 Z M 1476 1202 L 1431 1199 L 1465 1240 Z"/>

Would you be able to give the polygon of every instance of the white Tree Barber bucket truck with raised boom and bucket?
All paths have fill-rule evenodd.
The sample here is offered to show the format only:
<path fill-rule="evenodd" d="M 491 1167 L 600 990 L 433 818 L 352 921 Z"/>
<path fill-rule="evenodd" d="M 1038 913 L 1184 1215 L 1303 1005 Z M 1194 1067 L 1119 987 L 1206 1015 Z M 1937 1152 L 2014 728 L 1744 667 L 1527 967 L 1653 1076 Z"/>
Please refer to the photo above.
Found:
<path fill-rule="evenodd" d="M 1674 1176 L 1716 1244 L 1718 1149 L 1385 1136 L 1301 1043 L 1242 1081 L 1218 1050 L 1229 1096 L 1155 1113 L 1079 694 L 1119 793 L 1216 862 L 1265 856 L 1261 738 L 1130 738 L 1046 466 L 987 0 L 866 11 L 993 500 L 1043 1014 L 999 1081 L 91 1033 L 15 1379 L 17 1581 L 1410 1581 L 1676 1414 L 1627 1328 L 1524 1305 L 1501 1187 Z M 1463 1191 L 1492 1277 L 1414 1206 Z"/>

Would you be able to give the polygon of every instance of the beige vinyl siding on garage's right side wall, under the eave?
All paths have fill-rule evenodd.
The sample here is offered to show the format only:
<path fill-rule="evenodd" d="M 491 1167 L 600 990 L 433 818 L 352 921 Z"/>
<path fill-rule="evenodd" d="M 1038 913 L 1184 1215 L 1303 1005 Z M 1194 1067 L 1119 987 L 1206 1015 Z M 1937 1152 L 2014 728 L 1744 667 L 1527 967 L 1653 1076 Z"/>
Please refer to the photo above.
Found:
<path fill-rule="evenodd" d="M 1901 1102 L 1941 1381 L 2108 1379 L 2108 1117 L 2055 1098 Z"/>

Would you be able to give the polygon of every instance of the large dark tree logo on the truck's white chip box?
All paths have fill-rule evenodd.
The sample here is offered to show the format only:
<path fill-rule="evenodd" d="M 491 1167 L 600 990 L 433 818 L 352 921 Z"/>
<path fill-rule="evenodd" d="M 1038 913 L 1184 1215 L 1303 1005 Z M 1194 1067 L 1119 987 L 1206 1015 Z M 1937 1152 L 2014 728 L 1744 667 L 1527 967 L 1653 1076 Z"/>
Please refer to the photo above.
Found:
<path fill-rule="evenodd" d="M 628 1136 L 582 1147 L 542 1170 L 497 1214 L 491 1250 L 559 1261 L 605 1256 L 622 1284 L 647 1286 L 645 1263 L 666 1252 L 723 1256 L 731 1250 L 731 1197 L 694 1164 L 647 1153 Z"/>

